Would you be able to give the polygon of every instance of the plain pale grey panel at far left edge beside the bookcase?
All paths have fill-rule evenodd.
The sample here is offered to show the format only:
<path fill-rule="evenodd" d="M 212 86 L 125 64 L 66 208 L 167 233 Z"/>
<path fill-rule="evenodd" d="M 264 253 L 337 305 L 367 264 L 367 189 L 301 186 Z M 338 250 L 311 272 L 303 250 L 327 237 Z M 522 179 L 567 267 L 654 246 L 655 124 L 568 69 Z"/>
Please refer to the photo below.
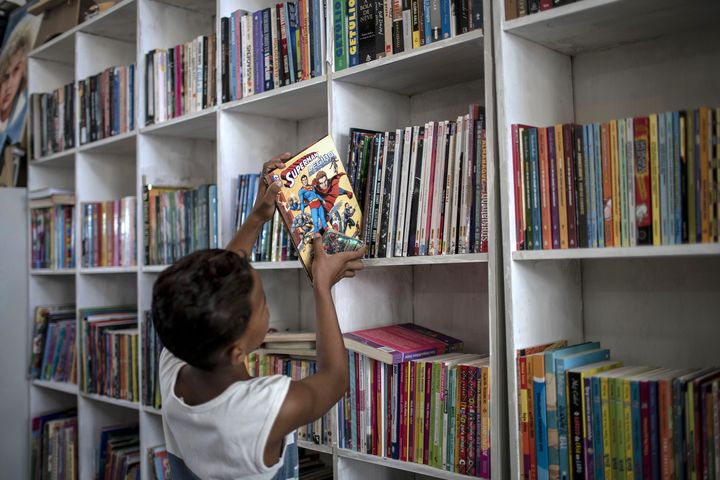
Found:
<path fill-rule="evenodd" d="M 0 465 L 3 478 L 28 478 L 27 200 L 0 188 Z"/>

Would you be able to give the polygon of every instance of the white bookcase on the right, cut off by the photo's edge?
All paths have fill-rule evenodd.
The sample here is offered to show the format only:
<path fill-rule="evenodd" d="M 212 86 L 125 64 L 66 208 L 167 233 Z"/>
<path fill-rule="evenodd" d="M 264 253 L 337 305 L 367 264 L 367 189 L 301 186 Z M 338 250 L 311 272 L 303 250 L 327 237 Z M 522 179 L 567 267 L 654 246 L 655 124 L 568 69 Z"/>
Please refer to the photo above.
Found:
<path fill-rule="evenodd" d="M 582 0 L 505 21 L 494 0 L 510 469 L 515 352 L 597 340 L 626 365 L 717 363 L 720 245 L 515 251 L 510 126 L 604 122 L 720 104 L 712 1 Z"/>

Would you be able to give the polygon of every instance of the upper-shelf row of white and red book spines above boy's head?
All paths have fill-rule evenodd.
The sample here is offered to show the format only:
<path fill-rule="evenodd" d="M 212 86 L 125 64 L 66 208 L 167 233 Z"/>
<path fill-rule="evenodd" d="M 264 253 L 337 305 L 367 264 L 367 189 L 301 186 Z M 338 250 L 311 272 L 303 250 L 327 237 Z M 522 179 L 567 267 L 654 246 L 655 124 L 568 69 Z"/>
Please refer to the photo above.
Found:
<path fill-rule="evenodd" d="M 201 35 L 145 54 L 146 125 L 215 105 L 216 48 L 215 35 Z"/>

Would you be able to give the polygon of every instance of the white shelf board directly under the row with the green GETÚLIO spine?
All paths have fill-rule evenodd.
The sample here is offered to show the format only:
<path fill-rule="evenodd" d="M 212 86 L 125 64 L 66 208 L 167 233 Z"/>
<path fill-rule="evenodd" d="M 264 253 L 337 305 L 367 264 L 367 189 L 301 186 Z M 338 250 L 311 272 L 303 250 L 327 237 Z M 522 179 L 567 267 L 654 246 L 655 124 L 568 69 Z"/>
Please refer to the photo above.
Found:
<path fill-rule="evenodd" d="M 473 30 L 409 52 L 356 65 L 332 74 L 333 80 L 404 95 L 477 80 L 483 76 L 484 36 Z"/>

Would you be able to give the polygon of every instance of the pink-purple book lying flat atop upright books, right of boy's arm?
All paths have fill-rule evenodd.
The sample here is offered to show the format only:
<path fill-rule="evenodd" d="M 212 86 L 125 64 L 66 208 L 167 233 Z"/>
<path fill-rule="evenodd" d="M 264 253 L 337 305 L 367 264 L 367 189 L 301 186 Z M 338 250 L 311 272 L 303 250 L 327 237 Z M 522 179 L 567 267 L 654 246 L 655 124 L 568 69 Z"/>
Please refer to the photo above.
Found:
<path fill-rule="evenodd" d="M 462 340 L 413 323 L 358 330 L 345 333 L 343 337 L 347 349 L 387 364 L 463 349 Z"/>

